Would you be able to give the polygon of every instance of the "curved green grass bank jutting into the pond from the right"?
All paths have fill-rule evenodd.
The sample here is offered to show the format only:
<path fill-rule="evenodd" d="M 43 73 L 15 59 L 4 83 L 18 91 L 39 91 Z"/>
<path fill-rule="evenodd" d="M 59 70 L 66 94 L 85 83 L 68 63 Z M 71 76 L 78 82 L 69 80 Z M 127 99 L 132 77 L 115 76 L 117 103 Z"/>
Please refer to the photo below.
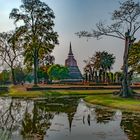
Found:
<path fill-rule="evenodd" d="M 137 99 L 126 99 L 114 95 L 95 95 L 87 96 L 85 101 L 91 104 L 98 104 L 112 108 L 140 111 L 140 100 Z"/>

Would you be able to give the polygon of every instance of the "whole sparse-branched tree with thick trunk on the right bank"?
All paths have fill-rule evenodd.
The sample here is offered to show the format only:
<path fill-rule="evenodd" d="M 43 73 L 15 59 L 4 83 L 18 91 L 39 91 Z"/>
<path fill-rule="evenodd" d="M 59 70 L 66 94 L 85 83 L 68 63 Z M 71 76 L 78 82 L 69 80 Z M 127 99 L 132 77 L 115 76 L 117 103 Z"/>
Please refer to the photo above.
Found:
<path fill-rule="evenodd" d="M 79 37 L 94 37 L 100 39 L 102 36 L 109 36 L 121 39 L 125 42 L 125 51 L 123 57 L 123 80 L 120 95 L 129 97 L 132 95 L 128 75 L 128 51 L 135 41 L 134 35 L 140 29 L 140 3 L 134 0 L 120 2 L 118 10 L 112 13 L 111 25 L 105 25 L 103 22 L 96 24 L 97 29 L 92 32 L 81 31 Z"/>

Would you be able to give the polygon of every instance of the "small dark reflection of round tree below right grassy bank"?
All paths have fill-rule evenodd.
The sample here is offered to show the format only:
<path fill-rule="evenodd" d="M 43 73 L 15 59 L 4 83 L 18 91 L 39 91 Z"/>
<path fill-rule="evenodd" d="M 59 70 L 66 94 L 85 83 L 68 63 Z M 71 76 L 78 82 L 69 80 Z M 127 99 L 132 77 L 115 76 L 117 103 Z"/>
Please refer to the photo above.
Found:
<path fill-rule="evenodd" d="M 108 123 L 113 120 L 115 115 L 115 111 L 110 110 L 108 108 L 96 107 L 95 108 L 96 121 L 97 123 Z"/>

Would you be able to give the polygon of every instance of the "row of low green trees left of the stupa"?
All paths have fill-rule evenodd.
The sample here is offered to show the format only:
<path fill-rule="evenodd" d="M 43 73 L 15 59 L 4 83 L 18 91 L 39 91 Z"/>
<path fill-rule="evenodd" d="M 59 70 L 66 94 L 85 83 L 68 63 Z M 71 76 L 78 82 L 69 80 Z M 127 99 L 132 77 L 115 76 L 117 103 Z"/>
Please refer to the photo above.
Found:
<path fill-rule="evenodd" d="M 16 84 L 33 83 L 34 76 L 32 71 L 26 68 L 17 66 L 14 68 L 14 78 Z M 37 71 L 38 83 L 49 84 L 52 80 L 61 80 L 69 78 L 69 70 L 67 67 L 52 64 L 52 65 L 41 65 Z M 11 70 L 3 70 L 0 72 L 0 84 L 12 84 L 12 72 Z"/>

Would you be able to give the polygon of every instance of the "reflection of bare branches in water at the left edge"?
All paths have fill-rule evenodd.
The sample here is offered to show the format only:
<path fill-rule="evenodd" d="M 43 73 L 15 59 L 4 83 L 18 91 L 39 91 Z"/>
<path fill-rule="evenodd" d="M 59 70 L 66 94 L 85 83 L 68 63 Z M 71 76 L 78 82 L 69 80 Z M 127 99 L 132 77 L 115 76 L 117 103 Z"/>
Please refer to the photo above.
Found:
<path fill-rule="evenodd" d="M 4 99 L 5 100 L 5 99 Z M 21 102 L 8 99 L 6 102 L 1 100 L 3 108 L 0 111 L 0 139 L 8 140 L 13 131 L 19 127 Z"/>

